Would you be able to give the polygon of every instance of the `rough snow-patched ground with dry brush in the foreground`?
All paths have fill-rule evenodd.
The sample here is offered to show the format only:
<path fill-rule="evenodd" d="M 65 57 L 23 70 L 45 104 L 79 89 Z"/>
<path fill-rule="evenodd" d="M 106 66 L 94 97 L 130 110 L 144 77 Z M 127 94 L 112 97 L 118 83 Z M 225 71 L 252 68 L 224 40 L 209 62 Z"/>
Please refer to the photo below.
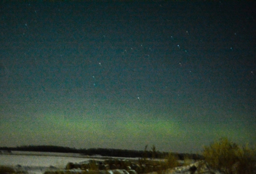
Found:
<path fill-rule="evenodd" d="M 152 165 L 153 164 L 153 165 Z M 239 163 L 234 164 L 232 174 L 239 174 Z M 250 174 L 256 174 L 250 172 Z M 50 171 L 44 174 L 223 174 L 213 170 L 205 161 L 193 162 L 174 168 L 154 163 L 132 163 L 128 160 L 87 161 L 81 164 L 68 163 L 66 170 Z"/>

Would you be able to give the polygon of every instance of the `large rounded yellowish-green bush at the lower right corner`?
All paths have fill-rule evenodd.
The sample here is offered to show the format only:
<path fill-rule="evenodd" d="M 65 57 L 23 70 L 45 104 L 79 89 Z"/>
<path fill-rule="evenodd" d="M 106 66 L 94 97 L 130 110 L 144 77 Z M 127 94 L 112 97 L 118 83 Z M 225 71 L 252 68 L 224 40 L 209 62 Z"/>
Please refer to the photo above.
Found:
<path fill-rule="evenodd" d="M 255 170 L 255 151 L 226 138 L 204 147 L 203 156 L 210 167 L 225 174 L 251 174 Z"/>

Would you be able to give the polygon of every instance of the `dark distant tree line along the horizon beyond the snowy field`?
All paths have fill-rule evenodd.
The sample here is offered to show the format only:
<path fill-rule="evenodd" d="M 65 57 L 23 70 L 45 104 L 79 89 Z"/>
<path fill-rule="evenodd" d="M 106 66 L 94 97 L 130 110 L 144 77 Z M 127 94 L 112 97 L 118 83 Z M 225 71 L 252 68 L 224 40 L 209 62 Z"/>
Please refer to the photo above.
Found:
<path fill-rule="evenodd" d="M 61 152 L 61 153 L 80 153 L 81 155 L 101 155 L 112 157 L 126 157 L 126 158 L 166 158 L 168 152 L 156 151 L 155 147 L 152 150 L 125 150 L 125 149 L 104 149 L 104 148 L 92 148 L 92 149 L 75 149 L 62 146 L 19 146 L 19 147 L 0 147 L 0 150 L 19 150 L 30 152 Z M 184 159 L 187 156 L 192 159 L 199 159 L 201 156 L 196 154 L 175 153 L 179 159 Z"/>

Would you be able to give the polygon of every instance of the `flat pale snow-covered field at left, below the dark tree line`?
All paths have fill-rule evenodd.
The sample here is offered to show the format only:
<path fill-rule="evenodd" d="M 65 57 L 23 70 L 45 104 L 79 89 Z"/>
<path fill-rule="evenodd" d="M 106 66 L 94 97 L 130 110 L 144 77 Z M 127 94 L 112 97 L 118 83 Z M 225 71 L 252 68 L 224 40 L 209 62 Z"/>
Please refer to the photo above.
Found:
<path fill-rule="evenodd" d="M 11 166 L 16 169 L 19 168 L 28 171 L 29 174 L 43 174 L 46 170 L 63 169 L 68 162 L 80 163 L 92 159 L 104 161 L 105 158 L 107 157 L 82 156 L 78 153 L 12 151 L 11 154 L 0 154 L 0 165 Z M 138 160 L 138 158 L 125 159 Z"/>

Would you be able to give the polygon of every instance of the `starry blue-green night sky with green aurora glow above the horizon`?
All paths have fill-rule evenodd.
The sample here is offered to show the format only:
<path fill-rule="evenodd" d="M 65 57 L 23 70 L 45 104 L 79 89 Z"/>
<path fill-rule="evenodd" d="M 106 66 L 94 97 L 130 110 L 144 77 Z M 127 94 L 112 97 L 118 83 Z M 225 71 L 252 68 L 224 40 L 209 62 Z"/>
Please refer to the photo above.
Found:
<path fill-rule="evenodd" d="M 0 6 L 0 147 L 256 144 L 254 1 Z"/>

